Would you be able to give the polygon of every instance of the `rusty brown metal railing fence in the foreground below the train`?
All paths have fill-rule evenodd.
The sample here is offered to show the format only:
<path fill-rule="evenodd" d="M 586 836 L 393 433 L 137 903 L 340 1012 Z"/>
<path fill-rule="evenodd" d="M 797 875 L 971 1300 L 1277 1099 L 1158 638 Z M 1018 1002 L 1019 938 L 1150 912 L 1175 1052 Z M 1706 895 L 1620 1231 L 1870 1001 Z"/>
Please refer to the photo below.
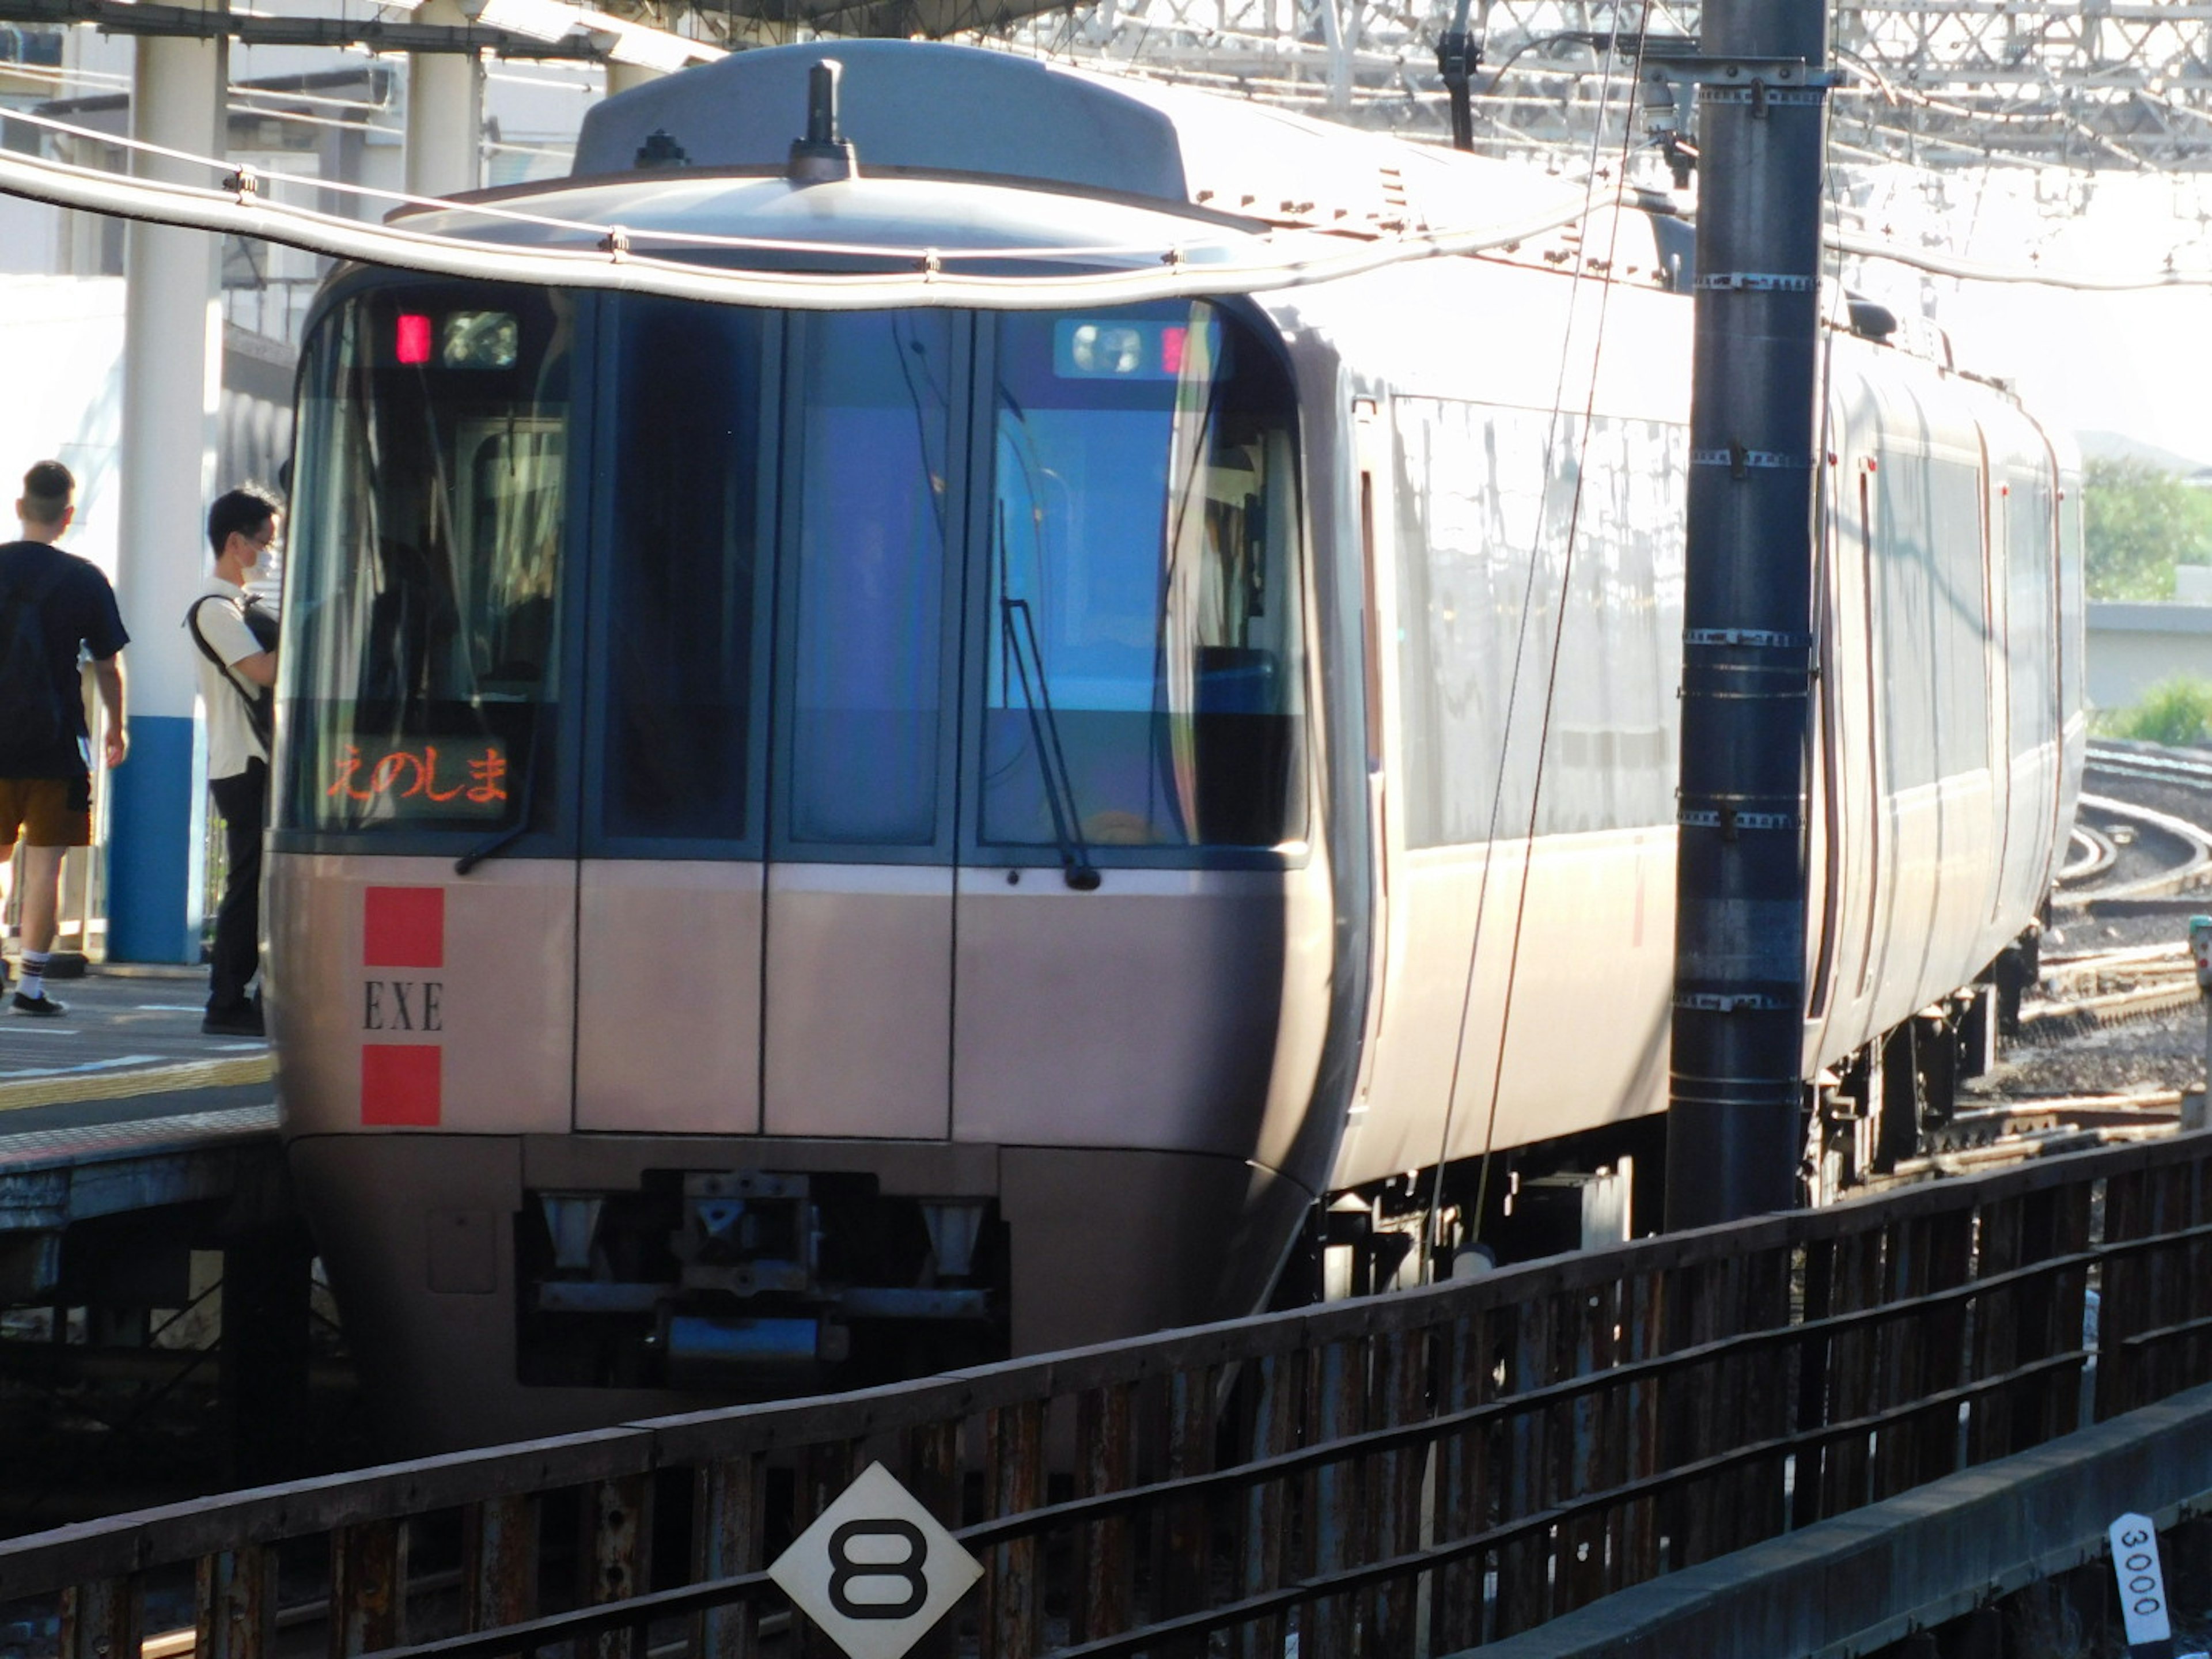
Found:
<path fill-rule="evenodd" d="M 2183 1135 L 42 1533 L 0 1621 L 62 1659 L 166 1621 L 204 1659 L 818 1655 L 763 1568 L 880 1460 L 987 1568 L 920 1652 L 1447 1655 L 2208 1378 Z"/>

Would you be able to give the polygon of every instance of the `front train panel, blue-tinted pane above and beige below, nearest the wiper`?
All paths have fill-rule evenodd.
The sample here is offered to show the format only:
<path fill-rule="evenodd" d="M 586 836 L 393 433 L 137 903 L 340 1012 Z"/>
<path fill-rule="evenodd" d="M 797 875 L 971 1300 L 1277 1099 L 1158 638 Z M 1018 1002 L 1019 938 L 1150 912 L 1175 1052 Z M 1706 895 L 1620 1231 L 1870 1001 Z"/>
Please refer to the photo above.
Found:
<path fill-rule="evenodd" d="M 761 1128 L 945 1139 L 973 325 L 787 327 Z"/>

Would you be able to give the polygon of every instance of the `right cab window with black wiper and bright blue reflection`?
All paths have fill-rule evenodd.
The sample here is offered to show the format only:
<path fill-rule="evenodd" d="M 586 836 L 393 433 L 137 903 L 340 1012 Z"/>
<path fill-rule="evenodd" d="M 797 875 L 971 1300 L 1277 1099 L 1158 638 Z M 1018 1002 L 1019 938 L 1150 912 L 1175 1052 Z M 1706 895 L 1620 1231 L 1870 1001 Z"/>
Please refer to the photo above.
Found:
<path fill-rule="evenodd" d="M 1305 834 L 1290 383 L 1212 305 L 998 319 L 982 841 Z M 1055 814 L 1053 801 L 1062 807 Z"/>

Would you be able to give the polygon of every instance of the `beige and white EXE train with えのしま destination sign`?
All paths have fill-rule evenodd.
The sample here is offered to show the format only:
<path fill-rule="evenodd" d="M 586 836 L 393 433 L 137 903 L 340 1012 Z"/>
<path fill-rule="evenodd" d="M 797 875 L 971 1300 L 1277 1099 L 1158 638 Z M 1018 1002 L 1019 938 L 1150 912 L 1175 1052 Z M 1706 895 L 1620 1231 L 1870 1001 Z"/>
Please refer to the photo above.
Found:
<path fill-rule="evenodd" d="M 1064 274 L 1531 188 L 909 42 L 834 49 L 845 175 L 792 159 L 825 55 L 608 100 L 571 179 L 409 223 Z M 1442 1270 L 1557 1243 L 1546 1177 L 1646 1181 L 1686 250 L 1606 212 L 1060 312 L 341 270 L 301 369 L 274 1015 L 396 1440 L 1237 1314 L 1325 1212 L 1396 1228 L 1409 1263 L 1340 1256 L 1371 1283 L 1425 1232 Z M 1843 330 L 1827 398 L 1807 1075 L 2033 920 L 2081 768 L 2066 451 Z"/>

